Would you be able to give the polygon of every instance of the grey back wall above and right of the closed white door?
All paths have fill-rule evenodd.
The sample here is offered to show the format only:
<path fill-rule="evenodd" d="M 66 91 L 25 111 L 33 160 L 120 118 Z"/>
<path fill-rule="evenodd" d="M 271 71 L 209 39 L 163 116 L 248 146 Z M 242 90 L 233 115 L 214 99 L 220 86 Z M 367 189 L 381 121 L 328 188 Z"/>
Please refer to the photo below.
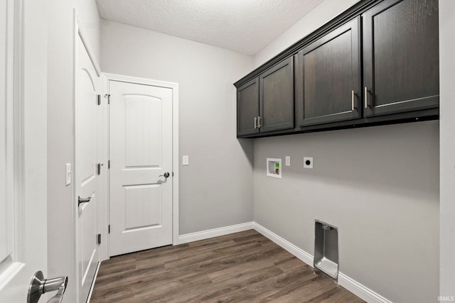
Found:
<path fill-rule="evenodd" d="M 102 20 L 102 71 L 178 83 L 179 234 L 252 221 L 252 141 L 236 136 L 235 87 L 252 57 Z M 180 161 L 181 162 L 181 161 Z"/>

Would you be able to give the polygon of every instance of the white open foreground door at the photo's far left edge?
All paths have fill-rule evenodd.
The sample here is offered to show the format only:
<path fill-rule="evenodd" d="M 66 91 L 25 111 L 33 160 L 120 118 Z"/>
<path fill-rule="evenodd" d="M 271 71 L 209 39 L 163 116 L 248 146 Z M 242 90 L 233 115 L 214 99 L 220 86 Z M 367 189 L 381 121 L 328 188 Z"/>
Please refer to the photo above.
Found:
<path fill-rule="evenodd" d="M 31 26 L 28 18 L 31 11 L 38 16 L 45 13 L 45 6 L 27 1 L 21 16 L 21 3 L 0 1 L 0 302 L 26 302 L 35 272 L 42 270 L 46 275 L 47 271 L 47 142 L 43 118 L 47 87 L 40 85 L 45 71 L 34 61 L 42 51 L 36 44 L 43 43 L 40 31 L 47 26 L 41 22 Z M 23 22 L 15 19 L 15 13 Z M 23 36 L 20 24 L 22 30 L 27 29 Z M 15 42 L 20 46 L 16 48 Z M 16 66 L 16 55 L 23 55 L 23 75 Z M 24 85 L 18 83 L 18 89 L 23 100 L 14 93 L 14 79 L 21 78 Z"/>

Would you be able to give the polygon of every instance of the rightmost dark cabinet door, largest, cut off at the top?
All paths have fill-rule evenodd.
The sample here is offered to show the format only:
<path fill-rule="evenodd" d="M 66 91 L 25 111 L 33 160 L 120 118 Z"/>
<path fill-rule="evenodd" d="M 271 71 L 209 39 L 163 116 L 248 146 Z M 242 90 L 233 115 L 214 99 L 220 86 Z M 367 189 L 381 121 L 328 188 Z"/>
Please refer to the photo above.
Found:
<path fill-rule="evenodd" d="M 365 116 L 439 104 L 437 10 L 437 0 L 386 0 L 363 14 Z"/>

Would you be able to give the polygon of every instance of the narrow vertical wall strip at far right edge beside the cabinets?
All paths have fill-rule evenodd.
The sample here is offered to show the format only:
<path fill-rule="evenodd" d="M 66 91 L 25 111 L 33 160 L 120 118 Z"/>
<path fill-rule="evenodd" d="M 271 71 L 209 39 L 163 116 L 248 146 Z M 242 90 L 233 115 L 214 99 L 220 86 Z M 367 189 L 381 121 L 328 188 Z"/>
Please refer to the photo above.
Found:
<path fill-rule="evenodd" d="M 441 296 L 455 297 L 455 1 L 439 1 L 440 93 L 440 286 Z"/>

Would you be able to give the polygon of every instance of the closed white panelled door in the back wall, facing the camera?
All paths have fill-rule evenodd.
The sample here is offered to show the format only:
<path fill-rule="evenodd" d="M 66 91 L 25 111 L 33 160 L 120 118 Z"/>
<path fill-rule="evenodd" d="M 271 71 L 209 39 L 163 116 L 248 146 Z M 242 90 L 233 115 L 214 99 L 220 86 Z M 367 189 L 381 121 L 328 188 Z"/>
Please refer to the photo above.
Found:
<path fill-rule="evenodd" d="M 111 80 L 109 94 L 109 255 L 169 245 L 172 89 Z"/>

